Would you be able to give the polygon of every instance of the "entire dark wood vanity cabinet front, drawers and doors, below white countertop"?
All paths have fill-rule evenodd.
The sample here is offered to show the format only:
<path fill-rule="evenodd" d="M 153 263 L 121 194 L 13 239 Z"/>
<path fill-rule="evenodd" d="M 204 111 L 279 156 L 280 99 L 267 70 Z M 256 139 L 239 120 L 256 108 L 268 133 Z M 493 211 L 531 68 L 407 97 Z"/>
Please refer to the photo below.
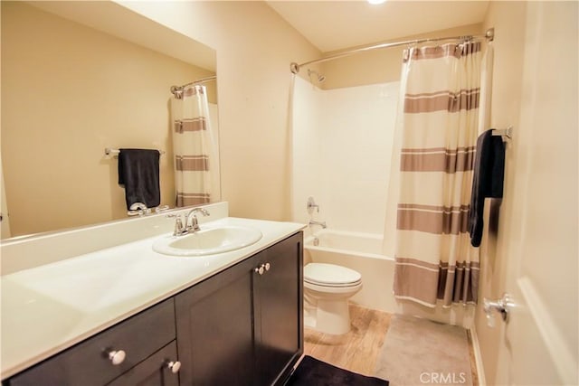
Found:
<path fill-rule="evenodd" d="M 283 384 L 303 353 L 302 242 L 295 233 L 3 385 Z"/>

